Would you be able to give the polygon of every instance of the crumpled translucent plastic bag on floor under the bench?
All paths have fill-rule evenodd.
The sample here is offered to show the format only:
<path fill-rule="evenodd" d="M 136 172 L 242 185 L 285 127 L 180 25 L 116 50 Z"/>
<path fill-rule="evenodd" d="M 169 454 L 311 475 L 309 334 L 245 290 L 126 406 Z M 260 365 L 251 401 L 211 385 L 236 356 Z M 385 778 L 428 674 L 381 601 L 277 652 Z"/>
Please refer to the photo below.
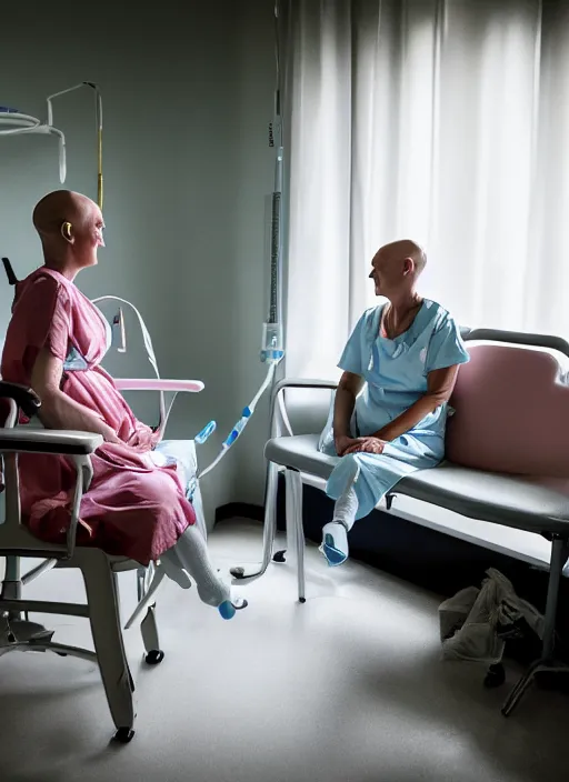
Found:
<path fill-rule="evenodd" d="M 520 621 L 525 621 L 527 626 L 542 638 L 543 616 L 539 611 L 518 598 L 511 582 L 500 571 L 490 568 L 487 577 L 480 590 L 461 590 L 441 604 L 439 612 L 445 660 L 490 664 L 500 662 L 505 638 Z M 466 613 L 472 599 L 470 610 Z M 451 629 L 451 623 L 455 630 Z"/>

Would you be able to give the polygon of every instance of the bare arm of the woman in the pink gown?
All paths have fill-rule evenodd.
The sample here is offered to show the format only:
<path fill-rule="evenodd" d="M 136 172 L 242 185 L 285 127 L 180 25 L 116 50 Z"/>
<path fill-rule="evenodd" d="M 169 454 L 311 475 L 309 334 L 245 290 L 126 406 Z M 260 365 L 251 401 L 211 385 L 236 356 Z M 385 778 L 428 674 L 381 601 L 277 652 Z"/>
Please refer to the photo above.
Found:
<path fill-rule="evenodd" d="M 93 412 L 70 399 L 61 389 L 63 363 L 48 350 L 36 359 L 31 387 L 41 399 L 38 415 L 47 429 L 77 429 L 102 434 L 107 442 L 121 442 L 116 432 Z"/>

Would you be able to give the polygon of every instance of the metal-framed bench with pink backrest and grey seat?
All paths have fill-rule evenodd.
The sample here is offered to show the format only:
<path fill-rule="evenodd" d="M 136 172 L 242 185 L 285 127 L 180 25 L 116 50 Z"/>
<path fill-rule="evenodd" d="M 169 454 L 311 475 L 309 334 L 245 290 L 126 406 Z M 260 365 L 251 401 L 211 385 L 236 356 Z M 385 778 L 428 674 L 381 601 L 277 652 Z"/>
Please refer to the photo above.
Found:
<path fill-rule="evenodd" d="M 569 672 L 569 665 L 555 658 L 559 588 L 569 557 L 569 375 L 563 365 L 569 343 L 556 337 L 487 329 L 467 332 L 465 339 L 471 361 L 461 367 L 450 400 L 447 459 L 401 480 L 386 504 L 390 509 L 397 495 L 407 495 L 551 542 L 541 656 L 510 692 L 502 708 L 507 716 L 536 674 Z M 288 379 L 273 391 L 272 434 L 264 449 L 268 485 L 260 572 L 271 559 L 283 559 L 284 552 L 272 551 L 278 473 L 283 471 L 287 539 L 296 548 L 298 594 L 305 602 L 302 485 L 315 478 L 320 484 L 326 481 L 337 459 L 318 451 L 318 433 L 292 433 L 283 400 L 295 389 L 333 392 L 336 383 Z M 241 568 L 232 572 L 238 579 L 257 575 Z"/>

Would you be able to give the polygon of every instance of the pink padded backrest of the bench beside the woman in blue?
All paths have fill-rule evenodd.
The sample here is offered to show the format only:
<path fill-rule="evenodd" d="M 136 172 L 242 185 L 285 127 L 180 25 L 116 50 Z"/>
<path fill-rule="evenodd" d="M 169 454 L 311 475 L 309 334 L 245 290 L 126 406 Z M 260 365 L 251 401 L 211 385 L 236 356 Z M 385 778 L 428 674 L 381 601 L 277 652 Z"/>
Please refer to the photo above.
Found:
<path fill-rule="evenodd" d="M 447 424 L 447 459 L 479 470 L 568 478 L 569 360 L 515 341 L 467 342 L 470 362 L 460 368 L 450 402 L 456 412 Z"/>

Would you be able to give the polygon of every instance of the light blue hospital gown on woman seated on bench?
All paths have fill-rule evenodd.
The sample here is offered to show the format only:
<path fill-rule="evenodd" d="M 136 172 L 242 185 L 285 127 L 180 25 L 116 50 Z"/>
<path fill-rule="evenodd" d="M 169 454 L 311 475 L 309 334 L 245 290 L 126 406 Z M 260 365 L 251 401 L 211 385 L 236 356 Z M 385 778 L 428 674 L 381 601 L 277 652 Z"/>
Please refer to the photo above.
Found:
<path fill-rule="evenodd" d="M 343 350 L 338 367 L 366 380 L 351 420 L 353 437 L 371 435 L 396 419 L 427 392 L 427 377 L 437 369 L 469 361 L 460 331 L 435 301 L 423 300 L 409 329 L 391 340 L 380 334 L 385 304 L 367 310 Z M 337 500 L 347 487 L 351 460 L 360 472 L 355 484 L 356 519 L 366 517 L 395 484 L 416 470 L 436 467 L 445 455 L 448 404 L 441 404 L 413 429 L 388 442 L 381 454 L 356 453 L 339 460 L 327 484 Z M 331 417 L 320 450 L 337 455 Z"/>

